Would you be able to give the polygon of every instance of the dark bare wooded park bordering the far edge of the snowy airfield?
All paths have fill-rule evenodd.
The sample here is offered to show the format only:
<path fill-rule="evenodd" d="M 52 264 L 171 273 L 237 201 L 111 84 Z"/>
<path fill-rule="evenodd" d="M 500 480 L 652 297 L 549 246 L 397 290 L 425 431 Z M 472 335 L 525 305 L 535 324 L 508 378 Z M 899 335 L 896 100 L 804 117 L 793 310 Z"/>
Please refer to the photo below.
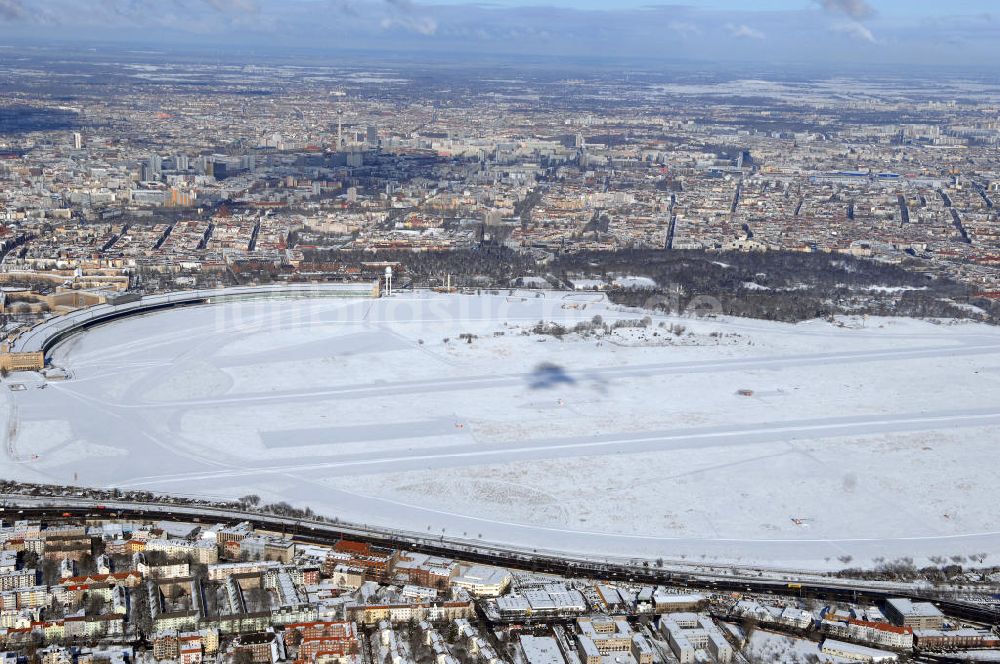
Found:
<path fill-rule="evenodd" d="M 310 252 L 316 260 L 343 264 L 398 261 L 397 284 L 421 287 L 510 288 L 525 277 L 546 287 L 579 279 L 603 283 L 610 299 L 625 306 L 688 310 L 711 298 L 731 316 L 797 322 L 835 315 L 977 319 L 1000 323 L 1000 304 L 966 284 L 926 272 L 926 261 L 899 264 L 844 254 L 769 251 L 623 249 L 545 253 L 503 246 L 451 251 Z M 619 276 L 648 277 L 654 288 L 616 287 Z"/>

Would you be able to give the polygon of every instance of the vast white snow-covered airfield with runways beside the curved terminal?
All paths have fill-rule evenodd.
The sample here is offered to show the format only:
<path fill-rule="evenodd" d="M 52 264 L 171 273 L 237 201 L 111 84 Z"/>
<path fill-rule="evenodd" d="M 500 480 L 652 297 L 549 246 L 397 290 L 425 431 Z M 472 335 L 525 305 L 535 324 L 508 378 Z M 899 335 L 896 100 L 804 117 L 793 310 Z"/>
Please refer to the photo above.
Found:
<path fill-rule="evenodd" d="M 105 324 L 53 351 L 70 380 L 6 380 L 2 474 L 256 493 L 574 553 L 1000 559 L 1000 330 L 652 315 L 530 333 L 595 315 L 644 314 L 593 294 L 418 292 Z"/>

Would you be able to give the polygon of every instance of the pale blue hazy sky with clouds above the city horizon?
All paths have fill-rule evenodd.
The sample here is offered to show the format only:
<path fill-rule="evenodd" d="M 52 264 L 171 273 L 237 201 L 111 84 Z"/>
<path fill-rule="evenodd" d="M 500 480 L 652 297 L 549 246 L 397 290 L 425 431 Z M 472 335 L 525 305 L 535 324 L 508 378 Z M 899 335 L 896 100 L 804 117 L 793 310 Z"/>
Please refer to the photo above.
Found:
<path fill-rule="evenodd" d="M 1000 0 L 0 0 L 25 40 L 996 66 Z"/>

